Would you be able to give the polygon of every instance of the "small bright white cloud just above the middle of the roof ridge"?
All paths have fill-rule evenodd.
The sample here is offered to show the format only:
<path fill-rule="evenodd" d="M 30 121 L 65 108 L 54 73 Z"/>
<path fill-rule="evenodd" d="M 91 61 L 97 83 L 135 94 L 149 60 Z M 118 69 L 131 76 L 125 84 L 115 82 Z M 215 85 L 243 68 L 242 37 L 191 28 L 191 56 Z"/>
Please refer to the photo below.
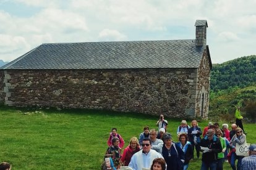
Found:
<path fill-rule="evenodd" d="M 103 41 L 122 41 L 126 39 L 126 35 L 119 33 L 117 30 L 109 29 L 100 31 L 98 37 Z"/>

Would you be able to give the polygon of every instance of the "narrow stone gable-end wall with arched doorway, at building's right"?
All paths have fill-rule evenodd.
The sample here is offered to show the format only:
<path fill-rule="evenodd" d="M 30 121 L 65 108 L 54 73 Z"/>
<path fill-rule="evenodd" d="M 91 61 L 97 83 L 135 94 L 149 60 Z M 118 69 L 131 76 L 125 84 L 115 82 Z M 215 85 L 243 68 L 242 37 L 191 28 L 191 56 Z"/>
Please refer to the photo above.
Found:
<path fill-rule="evenodd" d="M 209 112 L 210 98 L 210 64 L 207 50 L 203 53 L 200 67 L 198 68 L 197 99 L 195 115 L 198 118 L 207 119 Z M 203 96 L 202 96 L 203 95 Z M 202 108 L 203 107 L 203 108 Z"/>

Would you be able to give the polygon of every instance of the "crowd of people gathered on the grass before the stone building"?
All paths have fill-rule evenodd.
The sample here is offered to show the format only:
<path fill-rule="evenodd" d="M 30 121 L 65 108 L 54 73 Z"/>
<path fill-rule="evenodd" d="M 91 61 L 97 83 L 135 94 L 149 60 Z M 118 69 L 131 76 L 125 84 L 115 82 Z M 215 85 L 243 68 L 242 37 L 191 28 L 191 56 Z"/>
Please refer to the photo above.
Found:
<path fill-rule="evenodd" d="M 201 169 L 223 169 L 223 163 L 229 162 L 234 170 L 256 169 L 256 144 L 249 147 L 249 156 L 241 156 L 236 147 L 246 143 L 244 127 L 241 121 L 231 124 L 208 123 L 202 129 L 196 120 L 188 125 L 186 120 L 177 127 L 177 139 L 167 131 L 168 121 L 164 115 L 156 122 L 157 129 L 143 128 L 143 132 L 130 139 L 124 148 L 124 140 L 113 128 L 108 139 L 108 149 L 102 169 L 188 169 L 190 160 L 199 161 L 202 152 Z M 176 134 L 175 134 L 176 136 Z M 174 142 L 175 141 L 175 142 Z M 194 157 L 194 150 L 195 156 Z M 109 161 L 109 159 L 111 161 Z M 237 164 L 236 163 L 237 160 Z M 252 167 L 252 168 L 251 168 Z"/>

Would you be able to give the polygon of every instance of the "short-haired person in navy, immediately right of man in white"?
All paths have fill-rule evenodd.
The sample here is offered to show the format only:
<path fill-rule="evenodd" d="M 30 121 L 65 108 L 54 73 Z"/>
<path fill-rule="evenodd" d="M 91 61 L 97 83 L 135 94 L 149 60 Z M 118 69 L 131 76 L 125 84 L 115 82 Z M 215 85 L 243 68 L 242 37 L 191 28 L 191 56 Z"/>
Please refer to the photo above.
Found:
<path fill-rule="evenodd" d="M 162 149 L 162 155 L 164 157 L 164 161 L 167 164 L 166 169 L 183 169 L 185 156 L 184 152 L 181 150 L 181 147 L 173 142 L 173 137 L 169 133 L 164 134 L 163 139 L 164 145 Z"/>

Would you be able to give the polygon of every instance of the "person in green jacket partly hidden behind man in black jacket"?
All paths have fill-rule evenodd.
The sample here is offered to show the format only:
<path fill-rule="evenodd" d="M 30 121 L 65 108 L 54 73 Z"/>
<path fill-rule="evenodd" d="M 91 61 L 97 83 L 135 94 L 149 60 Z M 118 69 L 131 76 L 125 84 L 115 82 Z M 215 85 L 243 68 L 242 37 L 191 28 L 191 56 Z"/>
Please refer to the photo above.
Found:
<path fill-rule="evenodd" d="M 223 138 L 223 132 L 221 129 L 218 129 L 216 131 L 218 139 L 220 139 L 221 142 L 221 152 L 218 153 L 218 160 L 217 160 L 217 170 L 223 170 L 223 163 L 224 163 L 224 152 L 226 151 L 226 140 Z"/>

